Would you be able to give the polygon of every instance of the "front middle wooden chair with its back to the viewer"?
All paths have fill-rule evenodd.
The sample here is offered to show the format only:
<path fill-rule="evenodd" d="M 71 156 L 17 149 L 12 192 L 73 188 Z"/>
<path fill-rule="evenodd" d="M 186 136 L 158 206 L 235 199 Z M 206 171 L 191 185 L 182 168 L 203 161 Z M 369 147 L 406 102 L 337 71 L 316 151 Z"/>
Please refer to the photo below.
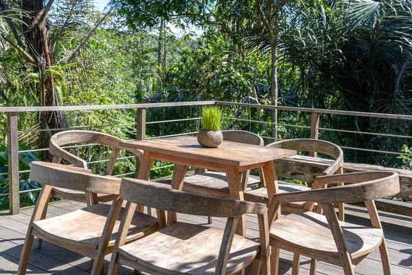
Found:
<path fill-rule="evenodd" d="M 117 235 L 108 274 L 119 264 L 149 274 L 234 274 L 253 263 L 253 274 L 268 274 L 267 208 L 250 203 L 174 190 L 165 184 L 122 179 L 120 197 L 128 204 Z M 124 245 L 135 203 L 170 212 L 227 217 L 225 230 L 176 222 Z M 258 214 L 260 243 L 235 234 L 242 214 Z"/>

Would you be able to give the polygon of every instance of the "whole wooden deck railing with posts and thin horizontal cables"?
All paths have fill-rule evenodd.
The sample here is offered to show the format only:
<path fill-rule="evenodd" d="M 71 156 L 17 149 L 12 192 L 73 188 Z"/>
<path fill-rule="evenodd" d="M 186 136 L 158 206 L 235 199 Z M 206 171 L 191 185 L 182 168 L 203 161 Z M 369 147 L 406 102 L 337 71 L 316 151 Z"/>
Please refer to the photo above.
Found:
<path fill-rule="evenodd" d="M 136 140 L 146 139 L 146 124 L 152 123 L 165 123 L 165 122 L 177 122 L 183 120 L 199 120 L 200 118 L 187 118 L 181 120 L 163 120 L 159 122 L 146 122 L 146 109 L 158 108 L 158 107 L 185 107 L 185 106 L 207 106 L 207 105 L 217 105 L 220 107 L 246 107 L 251 109 L 277 109 L 282 111 L 292 111 L 292 112 L 304 112 L 311 114 L 311 123 L 310 126 L 300 126 L 302 128 L 310 129 L 310 137 L 317 139 L 319 136 L 319 130 L 322 131 L 343 131 L 343 132 L 356 132 L 356 133 L 365 133 L 361 131 L 347 131 L 342 129 L 322 129 L 319 128 L 319 120 L 321 114 L 332 114 L 332 115 L 351 115 L 358 117 L 369 117 L 369 118 L 387 118 L 393 120 L 412 120 L 412 115 L 394 115 L 394 114 L 383 114 L 383 113 L 363 113 L 363 112 L 352 112 L 352 111 L 338 111 L 338 110 L 325 110 L 325 109 L 309 109 L 309 108 L 299 108 L 299 107 L 283 107 L 283 106 L 267 106 L 260 104 L 244 104 L 236 102 L 221 102 L 221 101 L 203 101 L 203 102 L 170 102 L 170 103 L 148 103 L 148 104 L 119 104 L 119 105 L 100 105 L 100 106 L 62 106 L 62 107 L 0 107 L 1 113 L 7 114 L 7 144 L 8 144 L 8 183 L 9 183 L 9 195 L 10 200 L 10 214 L 18 214 L 20 210 L 20 199 L 19 199 L 19 144 L 18 144 L 18 113 L 23 112 L 42 112 L 42 111 L 92 111 L 92 110 L 103 110 L 103 109 L 136 109 Z M 264 123 L 271 124 L 271 122 L 264 122 L 260 120 L 249 120 L 242 118 L 225 118 L 228 120 L 240 120 L 250 123 Z M 286 125 L 286 124 L 278 124 Z M 296 125 L 289 125 L 296 126 Z M 51 129 L 57 130 L 57 129 Z M 38 130 L 41 131 L 41 130 Z M 44 131 L 44 130 L 43 130 Z M 193 132 L 196 133 L 196 132 Z M 192 134 L 193 134 L 192 133 Z M 176 135 L 185 135 L 190 133 L 179 133 Z M 393 134 L 384 134 L 384 133 L 365 133 L 371 135 L 389 135 L 389 136 L 398 136 L 404 138 L 412 138 L 407 135 L 393 135 Z M 264 137 L 269 140 L 276 140 L 275 137 Z M 370 150 L 367 148 L 350 148 L 343 147 L 347 149 L 361 150 L 361 151 L 372 151 L 375 153 L 380 153 L 379 150 Z M 41 148 L 40 150 L 47 150 L 47 148 Z M 398 155 L 398 152 L 383 152 L 387 154 Z M 138 164 L 137 164 L 138 165 Z M 24 171 L 27 172 L 27 171 Z M 4 195 L 4 194 L 2 194 Z"/>

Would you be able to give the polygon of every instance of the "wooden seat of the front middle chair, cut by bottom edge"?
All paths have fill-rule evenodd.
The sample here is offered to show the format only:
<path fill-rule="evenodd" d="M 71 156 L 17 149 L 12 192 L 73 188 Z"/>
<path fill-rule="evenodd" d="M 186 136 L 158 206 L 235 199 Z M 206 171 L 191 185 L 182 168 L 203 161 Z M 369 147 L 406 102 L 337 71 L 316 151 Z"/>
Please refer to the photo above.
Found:
<path fill-rule="evenodd" d="M 222 236 L 218 228 L 178 222 L 121 246 L 117 261 L 153 274 L 214 274 Z M 249 265 L 259 250 L 259 243 L 235 235 L 226 274 Z"/>

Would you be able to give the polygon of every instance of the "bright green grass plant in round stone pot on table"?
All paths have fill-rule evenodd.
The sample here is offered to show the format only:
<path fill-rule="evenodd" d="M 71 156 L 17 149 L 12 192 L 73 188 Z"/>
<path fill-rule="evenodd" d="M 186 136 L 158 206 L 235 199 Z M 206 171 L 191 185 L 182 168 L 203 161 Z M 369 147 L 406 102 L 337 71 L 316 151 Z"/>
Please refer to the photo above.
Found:
<path fill-rule="evenodd" d="M 218 107 L 205 107 L 202 110 L 202 129 L 198 132 L 198 143 L 204 147 L 216 148 L 223 141 L 220 131 L 222 112 Z"/>

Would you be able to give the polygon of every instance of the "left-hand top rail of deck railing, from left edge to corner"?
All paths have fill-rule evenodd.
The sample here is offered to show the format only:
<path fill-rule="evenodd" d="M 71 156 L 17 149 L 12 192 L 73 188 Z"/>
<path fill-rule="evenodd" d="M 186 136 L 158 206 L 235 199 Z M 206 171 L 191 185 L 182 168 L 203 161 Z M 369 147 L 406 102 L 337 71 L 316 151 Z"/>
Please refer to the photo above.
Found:
<path fill-rule="evenodd" d="M 213 105 L 216 101 L 189 101 L 189 102 L 157 102 L 141 104 L 117 104 L 117 105 L 82 105 L 82 106 L 56 106 L 56 107 L 0 107 L 0 112 L 37 112 L 37 111 L 91 111 L 106 109 L 139 109 L 157 107 L 184 107 Z"/>

